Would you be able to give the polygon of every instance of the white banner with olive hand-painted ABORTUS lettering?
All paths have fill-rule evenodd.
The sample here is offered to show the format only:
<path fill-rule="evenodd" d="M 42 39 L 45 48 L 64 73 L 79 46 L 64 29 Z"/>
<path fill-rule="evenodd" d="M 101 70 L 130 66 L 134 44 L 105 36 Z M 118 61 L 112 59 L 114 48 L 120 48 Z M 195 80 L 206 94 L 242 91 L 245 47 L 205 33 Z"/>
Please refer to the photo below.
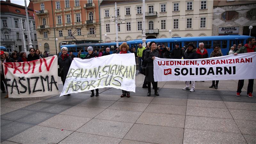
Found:
<path fill-rule="evenodd" d="M 135 92 L 135 74 L 134 53 L 74 58 L 60 96 L 104 87 Z"/>

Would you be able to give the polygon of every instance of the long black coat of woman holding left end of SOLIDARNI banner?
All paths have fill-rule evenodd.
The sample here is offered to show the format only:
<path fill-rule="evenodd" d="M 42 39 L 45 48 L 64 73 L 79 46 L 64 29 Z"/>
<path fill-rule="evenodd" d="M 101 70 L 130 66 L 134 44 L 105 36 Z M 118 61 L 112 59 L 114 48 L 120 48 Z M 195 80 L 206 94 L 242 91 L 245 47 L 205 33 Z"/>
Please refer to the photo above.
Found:
<path fill-rule="evenodd" d="M 155 51 L 145 51 L 145 57 L 144 61 L 147 62 L 147 67 L 146 67 L 146 81 L 147 82 L 154 82 L 154 64 L 153 64 L 153 59 L 152 57 L 158 57 L 160 58 L 160 54 L 157 50 Z"/>

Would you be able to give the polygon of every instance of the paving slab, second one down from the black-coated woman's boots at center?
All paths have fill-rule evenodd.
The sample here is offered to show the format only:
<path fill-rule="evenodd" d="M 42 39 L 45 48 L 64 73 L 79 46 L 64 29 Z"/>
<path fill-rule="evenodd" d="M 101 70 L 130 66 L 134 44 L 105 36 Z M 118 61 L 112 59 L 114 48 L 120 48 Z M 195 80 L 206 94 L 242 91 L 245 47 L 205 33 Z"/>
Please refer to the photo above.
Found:
<path fill-rule="evenodd" d="M 186 115 L 186 106 L 149 104 L 145 112 Z"/>

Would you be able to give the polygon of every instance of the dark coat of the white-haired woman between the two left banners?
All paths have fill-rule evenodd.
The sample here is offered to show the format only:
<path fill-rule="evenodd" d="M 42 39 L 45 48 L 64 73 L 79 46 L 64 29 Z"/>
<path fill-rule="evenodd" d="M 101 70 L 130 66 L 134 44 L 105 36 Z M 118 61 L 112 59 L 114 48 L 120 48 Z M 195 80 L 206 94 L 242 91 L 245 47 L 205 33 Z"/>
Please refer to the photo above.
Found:
<path fill-rule="evenodd" d="M 58 65 L 60 65 L 60 69 L 62 67 L 63 68 L 63 75 L 61 77 L 61 81 L 64 81 L 66 80 L 66 77 L 68 75 L 68 70 L 69 70 L 69 67 L 71 65 L 71 62 L 72 62 L 72 58 L 71 57 L 67 57 L 67 58 L 64 58 L 64 60 L 62 60 L 62 57 L 61 55 L 58 57 Z"/>

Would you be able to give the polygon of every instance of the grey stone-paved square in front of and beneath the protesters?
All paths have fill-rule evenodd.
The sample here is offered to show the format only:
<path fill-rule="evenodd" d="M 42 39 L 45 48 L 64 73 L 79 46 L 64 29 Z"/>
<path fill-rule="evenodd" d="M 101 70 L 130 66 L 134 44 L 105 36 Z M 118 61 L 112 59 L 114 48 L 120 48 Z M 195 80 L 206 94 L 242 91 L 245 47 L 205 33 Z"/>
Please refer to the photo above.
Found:
<path fill-rule="evenodd" d="M 146 96 L 143 81 L 136 76 L 130 98 L 115 88 L 100 89 L 99 97 L 4 99 L 1 93 L 1 143 L 256 143 L 256 97 L 246 96 L 248 80 L 241 97 L 238 80 L 220 81 L 217 90 L 197 81 L 193 93 L 182 90 L 184 81 L 159 82 L 158 97 Z"/>

